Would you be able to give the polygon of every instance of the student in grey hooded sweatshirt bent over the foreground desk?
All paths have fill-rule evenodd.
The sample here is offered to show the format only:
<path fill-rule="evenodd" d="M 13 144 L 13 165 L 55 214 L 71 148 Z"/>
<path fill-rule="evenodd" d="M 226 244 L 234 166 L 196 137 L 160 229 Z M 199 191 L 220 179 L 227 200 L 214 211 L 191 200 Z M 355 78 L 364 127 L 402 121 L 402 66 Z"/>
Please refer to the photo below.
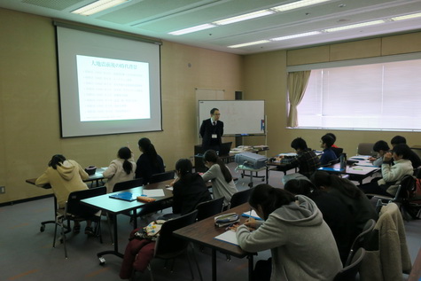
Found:
<path fill-rule="evenodd" d="M 274 281 L 333 280 L 342 269 L 335 239 L 311 199 L 259 184 L 249 204 L 264 221 L 238 226 L 238 245 L 249 253 L 270 249 L 272 254 L 269 267 L 261 266 L 265 261 L 256 263 L 253 280 L 269 280 L 263 277 L 269 272 Z"/>

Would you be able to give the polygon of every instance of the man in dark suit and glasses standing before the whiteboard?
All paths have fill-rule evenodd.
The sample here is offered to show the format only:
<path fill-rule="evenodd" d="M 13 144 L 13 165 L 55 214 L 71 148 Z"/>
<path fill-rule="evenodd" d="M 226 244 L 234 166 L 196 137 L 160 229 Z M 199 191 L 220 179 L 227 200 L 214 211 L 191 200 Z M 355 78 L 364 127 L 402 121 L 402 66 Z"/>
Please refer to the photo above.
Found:
<path fill-rule="evenodd" d="M 208 149 L 219 151 L 222 144 L 223 122 L 219 121 L 221 113 L 218 108 L 212 108 L 211 118 L 204 120 L 200 126 L 200 137 L 202 137 L 202 148 L 206 152 Z"/>

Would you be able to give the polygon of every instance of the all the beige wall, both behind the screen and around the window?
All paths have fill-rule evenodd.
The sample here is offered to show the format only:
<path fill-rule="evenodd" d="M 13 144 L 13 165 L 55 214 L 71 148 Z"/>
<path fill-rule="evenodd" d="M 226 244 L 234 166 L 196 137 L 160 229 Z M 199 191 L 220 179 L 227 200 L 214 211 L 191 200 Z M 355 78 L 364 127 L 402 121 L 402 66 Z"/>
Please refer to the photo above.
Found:
<path fill-rule="evenodd" d="M 421 51 L 421 33 L 394 35 L 292 51 L 238 56 L 178 43 L 161 47 L 163 131 L 102 137 L 60 138 L 58 80 L 54 27 L 51 19 L 0 9 L 0 203 L 27 199 L 43 191 L 25 183 L 39 176 L 54 153 L 63 153 L 83 167 L 104 167 L 117 150 L 149 137 L 168 169 L 175 160 L 193 155 L 197 139 L 195 88 L 236 90 L 245 99 L 265 99 L 269 154 L 291 151 L 294 137 L 316 149 L 326 130 L 285 129 L 286 66 L 361 59 Z M 333 130 L 337 144 L 353 155 L 360 142 L 390 141 L 395 132 Z M 421 144 L 418 133 L 399 133 L 409 144 Z M 263 137 L 247 137 L 262 144 Z"/>

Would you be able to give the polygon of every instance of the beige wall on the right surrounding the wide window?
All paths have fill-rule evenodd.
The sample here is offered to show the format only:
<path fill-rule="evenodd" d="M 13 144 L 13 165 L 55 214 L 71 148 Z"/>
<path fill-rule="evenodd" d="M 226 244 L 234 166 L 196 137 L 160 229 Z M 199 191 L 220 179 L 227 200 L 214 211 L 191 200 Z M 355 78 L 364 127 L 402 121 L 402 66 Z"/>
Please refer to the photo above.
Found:
<path fill-rule="evenodd" d="M 308 146 L 319 148 L 320 137 L 329 130 L 286 129 L 286 66 L 298 66 L 329 61 L 363 59 L 386 55 L 421 51 L 421 33 L 385 36 L 348 43 L 326 44 L 291 51 L 272 51 L 246 56 L 246 98 L 266 99 L 268 144 L 270 152 L 291 151 L 291 141 L 303 137 Z M 250 95 L 250 96 L 249 96 Z M 374 143 L 380 139 L 390 142 L 396 135 L 407 138 L 409 145 L 421 144 L 419 133 L 331 130 L 337 136 L 337 144 L 348 155 L 354 155 L 358 143 Z"/>

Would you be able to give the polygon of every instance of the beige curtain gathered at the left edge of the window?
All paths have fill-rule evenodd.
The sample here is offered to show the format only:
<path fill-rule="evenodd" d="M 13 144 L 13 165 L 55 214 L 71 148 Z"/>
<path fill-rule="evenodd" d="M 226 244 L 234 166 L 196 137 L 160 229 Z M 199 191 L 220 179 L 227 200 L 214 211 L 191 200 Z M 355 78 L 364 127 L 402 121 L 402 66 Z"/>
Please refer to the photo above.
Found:
<path fill-rule="evenodd" d="M 288 127 L 298 126 L 297 106 L 300 105 L 301 99 L 304 97 L 310 73 L 310 70 L 288 73 L 287 91 L 290 102 L 287 120 Z"/>

